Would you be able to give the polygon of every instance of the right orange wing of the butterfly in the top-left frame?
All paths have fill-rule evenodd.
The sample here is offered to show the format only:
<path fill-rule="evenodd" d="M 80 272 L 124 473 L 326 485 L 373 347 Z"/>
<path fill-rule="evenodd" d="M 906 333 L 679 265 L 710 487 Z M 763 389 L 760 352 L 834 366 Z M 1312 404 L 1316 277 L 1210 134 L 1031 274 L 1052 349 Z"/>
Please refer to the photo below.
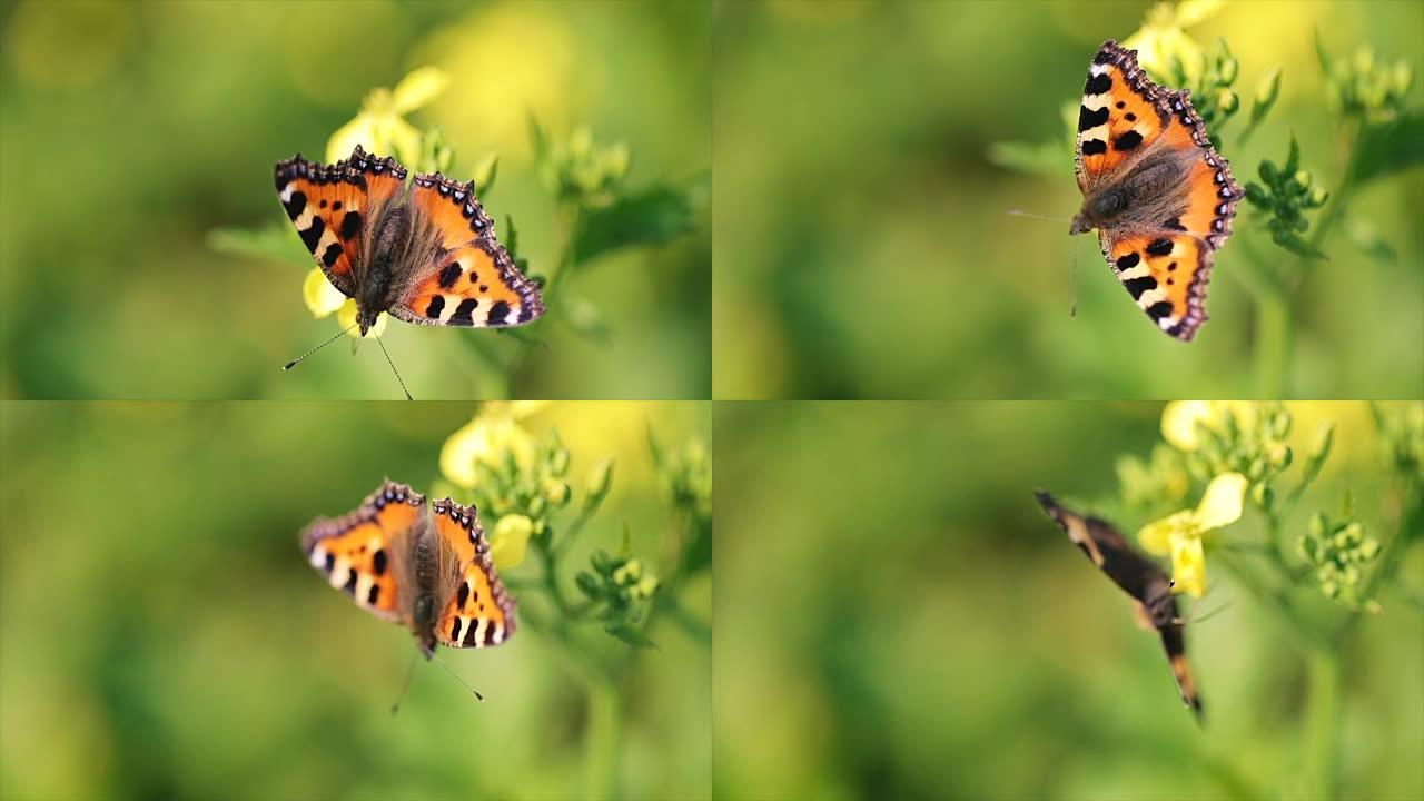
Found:
<path fill-rule="evenodd" d="M 474 197 L 474 181 L 416 175 L 410 204 L 434 227 L 436 258 L 420 268 L 390 314 L 420 325 L 494 328 L 524 325 L 544 314 L 538 286 L 520 272 L 494 237 L 494 221 Z"/>

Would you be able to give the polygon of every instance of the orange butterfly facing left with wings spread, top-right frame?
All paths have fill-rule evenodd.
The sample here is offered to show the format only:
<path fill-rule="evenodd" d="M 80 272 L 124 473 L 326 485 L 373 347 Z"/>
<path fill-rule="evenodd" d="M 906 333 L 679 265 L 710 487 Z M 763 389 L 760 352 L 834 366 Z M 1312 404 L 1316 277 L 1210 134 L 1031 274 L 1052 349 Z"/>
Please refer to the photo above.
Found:
<path fill-rule="evenodd" d="M 1074 164 L 1084 201 L 1069 234 L 1096 228 L 1138 308 L 1189 342 L 1206 322 L 1212 255 L 1246 195 L 1189 91 L 1152 83 L 1136 50 L 1105 41 L 1088 68 Z"/>

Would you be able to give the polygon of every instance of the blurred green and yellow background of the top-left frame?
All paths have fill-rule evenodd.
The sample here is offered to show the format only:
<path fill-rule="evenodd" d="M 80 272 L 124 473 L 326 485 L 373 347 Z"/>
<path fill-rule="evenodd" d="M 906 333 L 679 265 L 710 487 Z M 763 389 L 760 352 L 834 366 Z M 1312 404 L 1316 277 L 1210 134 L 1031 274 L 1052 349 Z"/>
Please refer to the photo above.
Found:
<path fill-rule="evenodd" d="M 651 1 L 6 3 L 0 396 L 400 398 L 375 343 L 279 371 L 336 332 L 302 304 L 295 232 L 305 268 L 206 234 L 285 222 L 273 162 L 322 158 L 370 90 L 433 64 L 454 80 L 412 121 L 444 130 L 461 181 L 498 154 L 486 207 L 548 275 L 562 242 L 528 115 L 627 143 L 629 187 L 705 180 L 709 43 L 711 9 Z M 703 208 L 689 235 L 580 269 L 565 298 L 604 338 L 551 315 L 521 329 L 543 345 L 399 321 L 386 345 L 417 399 L 706 398 L 708 228 Z"/>

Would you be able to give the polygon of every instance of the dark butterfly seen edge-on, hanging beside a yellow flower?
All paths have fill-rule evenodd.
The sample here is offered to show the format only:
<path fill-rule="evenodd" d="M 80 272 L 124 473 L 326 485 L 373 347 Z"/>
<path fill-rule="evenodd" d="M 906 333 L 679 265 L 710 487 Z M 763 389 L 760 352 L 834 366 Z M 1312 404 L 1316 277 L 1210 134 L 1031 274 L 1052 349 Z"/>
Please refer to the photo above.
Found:
<path fill-rule="evenodd" d="M 1172 582 L 1166 573 L 1155 562 L 1134 550 L 1109 523 L 1064 509 L 1047 492 L 1035 492 L 1034 496 L 1048 516 L 1068 533 L 1068 539 L 1082 549 L 1122 591 L 1132 596 L 1138 621 L 1162 637 L 1162 650 L 1166 651 L 1182 701 L 1192 707 L 1200 720 L 1202 697 L 1196 693 L 1192 667 L 1186 661 L 1185 624 L 1178 614 Z"/>

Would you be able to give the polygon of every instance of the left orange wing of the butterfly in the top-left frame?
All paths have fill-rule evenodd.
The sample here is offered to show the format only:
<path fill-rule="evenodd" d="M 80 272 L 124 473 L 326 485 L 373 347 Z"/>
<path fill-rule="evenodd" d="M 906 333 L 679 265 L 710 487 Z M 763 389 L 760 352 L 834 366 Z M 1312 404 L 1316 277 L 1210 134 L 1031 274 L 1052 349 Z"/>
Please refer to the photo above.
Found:
<path fill-rule="evenodd" d="M 298 154 L 276 165 L 276 192 L 316 265 L 332 286 L 356 296 L 366 221 L 402 188 L 406 168 L 356 145 L 350 158 L 326 165 Z"/>

